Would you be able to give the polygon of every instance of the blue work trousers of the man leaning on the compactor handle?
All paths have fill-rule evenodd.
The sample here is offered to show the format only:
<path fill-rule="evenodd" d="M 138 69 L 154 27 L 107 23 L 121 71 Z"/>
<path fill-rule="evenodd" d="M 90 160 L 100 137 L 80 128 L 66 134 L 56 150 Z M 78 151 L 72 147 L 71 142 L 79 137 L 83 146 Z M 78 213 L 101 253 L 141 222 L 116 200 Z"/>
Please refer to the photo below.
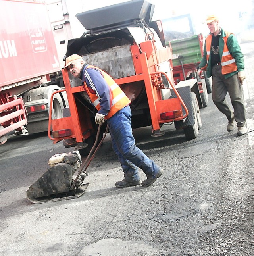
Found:
<path fill-rule="evenodd" d="M 112 148 L 118 156 L 127 182 L 139 181 L 138 167 L 151 179 L 155 178 L 160 167 L 135 146 L 131 128 L 131 109 L 129 106 L 118 111 L 107 120 Z"/>

